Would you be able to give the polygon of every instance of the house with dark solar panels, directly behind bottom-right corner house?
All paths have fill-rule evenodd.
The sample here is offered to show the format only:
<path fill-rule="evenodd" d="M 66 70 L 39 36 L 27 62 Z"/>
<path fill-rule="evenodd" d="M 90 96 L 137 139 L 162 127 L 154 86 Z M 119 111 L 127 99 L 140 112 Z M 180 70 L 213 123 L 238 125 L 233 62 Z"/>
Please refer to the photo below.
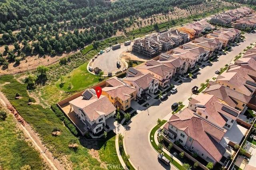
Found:
<path fill-rule="evenodd" d="M 200 94 L 192 98 L 189 102 L 188 109 L 196 111 L 199 115 L 211 123 L 230 129 L 240 114 L 240 111 L 234 109 L 210 94 Z"/>

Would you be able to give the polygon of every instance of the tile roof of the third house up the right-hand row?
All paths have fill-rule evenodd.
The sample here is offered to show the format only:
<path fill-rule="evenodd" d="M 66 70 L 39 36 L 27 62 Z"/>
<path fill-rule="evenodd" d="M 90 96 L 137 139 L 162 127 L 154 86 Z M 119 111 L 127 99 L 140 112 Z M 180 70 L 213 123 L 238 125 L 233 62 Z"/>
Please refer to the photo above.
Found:
<path fill-rule="evenodd" d="M 226 86 L 222 86 L 220 84 L 217 84 L 215 82 L 212 82 L 209 88 L 205 90 L 207 94 L 211 94 L 216 96 L 218 99 L 223 100 L 231 107 L 236 107 L 236 102 L 234 102 L 233 99 L 239 100 L 243 103 L 248 103 L 251 99 L 251 97 L 246 96 L 245 94 L 242 94 L 236 90 L 233 90 L 231 88 L 228 88 Z"/>

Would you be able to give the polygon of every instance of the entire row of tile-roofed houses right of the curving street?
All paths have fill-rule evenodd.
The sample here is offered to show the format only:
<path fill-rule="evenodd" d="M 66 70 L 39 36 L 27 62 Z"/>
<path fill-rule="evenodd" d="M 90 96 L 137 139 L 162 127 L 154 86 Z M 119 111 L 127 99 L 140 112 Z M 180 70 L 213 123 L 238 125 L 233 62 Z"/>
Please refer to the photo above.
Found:
<path fill-rule="evenodd" d="M 173 114 L 164 125 L 164 133 L 207 162 L 220 162 L 232 154 L 228 143 L 239 145 L 246 134 L 247 129 L 236 120 L 248 107 L 256 109 L 255 95 L 256 60 L 238 59 L 216 82 L 209 82 L 204 94 Z"/>

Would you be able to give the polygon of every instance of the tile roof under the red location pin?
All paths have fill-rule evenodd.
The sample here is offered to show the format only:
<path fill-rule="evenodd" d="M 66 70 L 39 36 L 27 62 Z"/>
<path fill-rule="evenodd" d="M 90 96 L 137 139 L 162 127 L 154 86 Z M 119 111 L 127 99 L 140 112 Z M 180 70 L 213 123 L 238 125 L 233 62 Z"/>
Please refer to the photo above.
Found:
<path fill-rule="evenodd" d="M 83 109 L 90 121 L 96 120 L 100 115 L 107 116 L 116 110 L 116 107 L 113 106 L 106 96 L 101 95 L 98 99 L 93 93 L 91 94 L 92 98 L 90 98 L 90 100 L 86 100 L 83 96 L 79 96 L 69 103 Z"/>

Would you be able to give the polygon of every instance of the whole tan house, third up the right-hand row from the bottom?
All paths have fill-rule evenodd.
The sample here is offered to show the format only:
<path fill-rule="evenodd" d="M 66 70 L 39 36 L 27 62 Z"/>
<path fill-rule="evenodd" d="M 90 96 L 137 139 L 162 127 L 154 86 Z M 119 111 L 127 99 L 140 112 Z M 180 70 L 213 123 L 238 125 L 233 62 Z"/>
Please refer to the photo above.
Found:
<path fill-rule="evenodd" d="M 204 94 L 210 94 L 216 96 L 220 102 L 233 107 L 244 113 L 247 109 L 246 105 L 250 102 L 250 96 L 246 96 L 236 90 L 228 88 L 226 86 L 217 84 L 216 82 L 209 82 L 208 87 L 204 91 Z"/>

